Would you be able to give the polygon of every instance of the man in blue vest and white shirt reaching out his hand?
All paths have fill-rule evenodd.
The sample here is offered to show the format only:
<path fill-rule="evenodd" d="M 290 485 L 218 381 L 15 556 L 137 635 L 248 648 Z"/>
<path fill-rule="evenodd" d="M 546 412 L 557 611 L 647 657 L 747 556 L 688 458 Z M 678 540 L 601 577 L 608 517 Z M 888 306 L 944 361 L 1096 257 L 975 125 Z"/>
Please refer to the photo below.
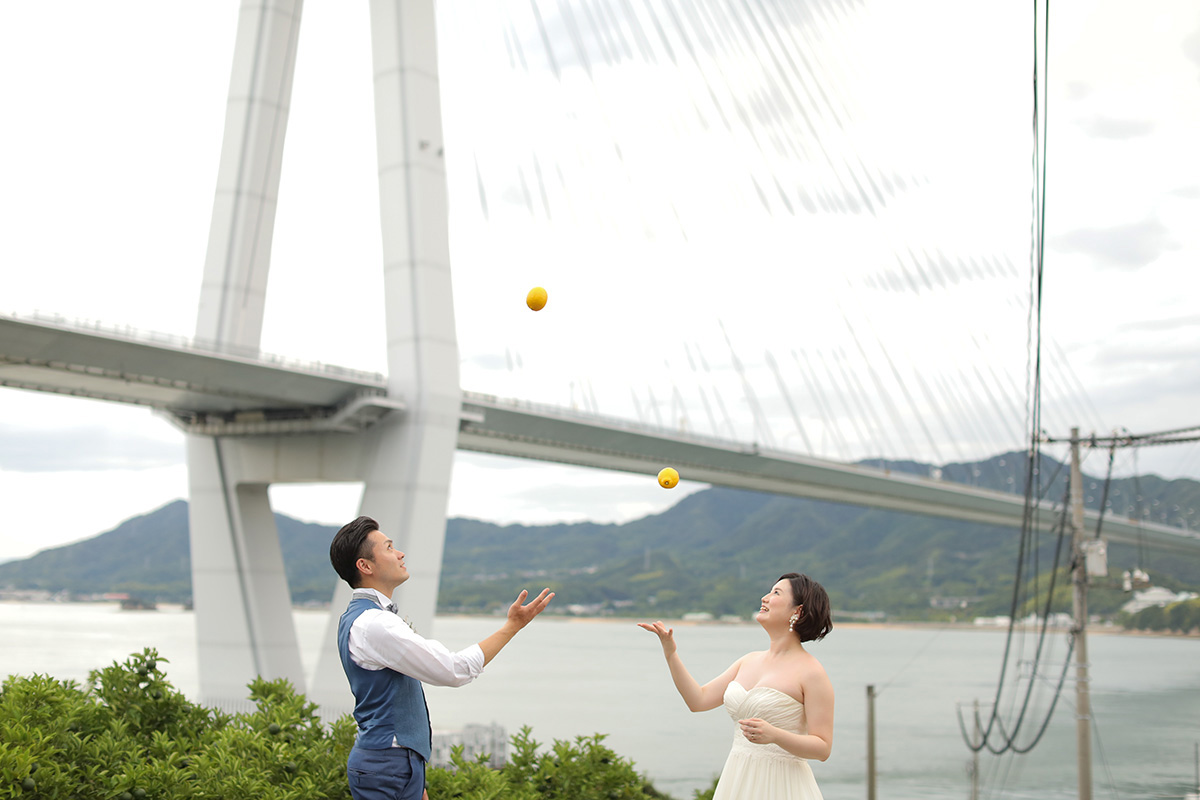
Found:
<path fill-rule="evenodd" d="M 469 684 L 546 609 L 554 594 L 524 603 L 522 591 L 496 633 L 458 652 L 419 636 L 396 615 L 391 593 L 408 581 L 404 554 L 371 517 L 342 527 L 329 546 L 329 560 L 354 595 L 337 626 L 337 651 L 354 692 L 359 735 L 347 775 L 355 800 L 428 800 L 425 763 L 432 748 L 430 711 L 422 684 Z"/>

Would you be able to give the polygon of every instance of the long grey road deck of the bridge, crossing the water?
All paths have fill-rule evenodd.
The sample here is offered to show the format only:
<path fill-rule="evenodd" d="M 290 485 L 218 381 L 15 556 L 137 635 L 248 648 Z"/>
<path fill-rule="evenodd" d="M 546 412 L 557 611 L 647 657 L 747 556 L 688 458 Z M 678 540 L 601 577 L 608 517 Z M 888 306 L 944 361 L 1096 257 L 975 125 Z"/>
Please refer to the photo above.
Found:
<path fill-rule="evenodd" d="M 383 375 L 222 353 L 187 339 L 83 327 L 65 320 L 0 317 L 0 385 L 154 408 L 185 433 L 272 439 L 270 463 L 292 464 L 290 481 L 334 481 L 328 464 L 293 458 L 302 438 L 370 429 L 403 416 Z M 464 391 L 460 450 L 654 474 L 678 467 L 692 481 L 994 525 L 1021 525 L 1024 498 L 890 470 L 680 433 L 587 411 Z M 274 467 L 271 468 L 274 469 Z M 270 482 L 270 470 L 260 480 Z M 1037 524 L 1050 529 L 1045 500 Z M 1094 525 L 1096 511 L 1086 512 Z M 1171 525 L 1106 516 L 1112 541 L 1200 553 L 1200 535 Z"/>

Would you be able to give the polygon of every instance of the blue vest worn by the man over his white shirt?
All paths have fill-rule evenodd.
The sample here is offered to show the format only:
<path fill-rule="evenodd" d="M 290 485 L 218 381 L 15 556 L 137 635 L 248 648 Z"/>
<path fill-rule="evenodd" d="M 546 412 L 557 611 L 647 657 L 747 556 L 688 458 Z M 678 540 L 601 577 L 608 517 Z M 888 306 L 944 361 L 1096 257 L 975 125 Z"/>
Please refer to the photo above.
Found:
<path fill-rule="evenodd" d="M 337 624 L 337 652 L 354 692 L 354 721 L 359 723 L 354 746 L 386 750 L 395 744 L 427 762 L 433 732 L 421 681 L 394 669 L 364 669 L 350 658 L 350 626 L 362 612 L 378 608 L 373 600 L 355 597 Z"/>

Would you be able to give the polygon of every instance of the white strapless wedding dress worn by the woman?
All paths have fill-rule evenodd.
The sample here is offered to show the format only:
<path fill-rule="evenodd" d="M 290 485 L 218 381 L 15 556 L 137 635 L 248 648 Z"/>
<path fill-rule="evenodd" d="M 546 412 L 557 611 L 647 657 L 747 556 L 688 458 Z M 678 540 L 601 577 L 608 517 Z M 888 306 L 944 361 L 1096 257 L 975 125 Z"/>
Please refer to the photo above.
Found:
<path fill-rule="evenodd" d="M 733 748 L 713 800 L 822 800 L 808 759 L 779 745 L 756 745 L 737 726 L 738 720 L 757 717 L 776 728 L 808 733 L 803 703 L 776 688 L 746 690 L 733 680 L 725 688 L 725 710 L 734 722 Z"/>

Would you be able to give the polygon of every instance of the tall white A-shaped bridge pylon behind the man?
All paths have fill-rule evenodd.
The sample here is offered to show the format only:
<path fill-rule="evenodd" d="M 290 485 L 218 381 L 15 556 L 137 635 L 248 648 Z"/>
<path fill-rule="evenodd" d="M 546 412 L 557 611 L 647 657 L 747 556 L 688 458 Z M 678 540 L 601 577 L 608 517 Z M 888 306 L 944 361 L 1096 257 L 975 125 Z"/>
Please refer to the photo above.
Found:
<path fill-rule="evenodd" d="M 238 20 L 196 326 L 197 339 L 217 348 L 260 344 L 301 6 L 242 4 Z M 433 619 L 461 407 L 433 0 L 372 0 L 371 29 L 386 395 L 403 398 L 406 413 L 384 416 L 370 434 L 187 437 L 206 700 L 245 697 L 256 675 L 305 688 L 270 483 L 361 481 L 364 513 L 410 555 L 406 613 L 424 630 Z M 287 458 L 277 458 L 284 451 Z M 335 612 L 347 599 L 340 584 Z M 332 626 L 337 614 L 330 616 Z M 307 688 L 317 702 L 349 697 L 331 646 Z"/>

